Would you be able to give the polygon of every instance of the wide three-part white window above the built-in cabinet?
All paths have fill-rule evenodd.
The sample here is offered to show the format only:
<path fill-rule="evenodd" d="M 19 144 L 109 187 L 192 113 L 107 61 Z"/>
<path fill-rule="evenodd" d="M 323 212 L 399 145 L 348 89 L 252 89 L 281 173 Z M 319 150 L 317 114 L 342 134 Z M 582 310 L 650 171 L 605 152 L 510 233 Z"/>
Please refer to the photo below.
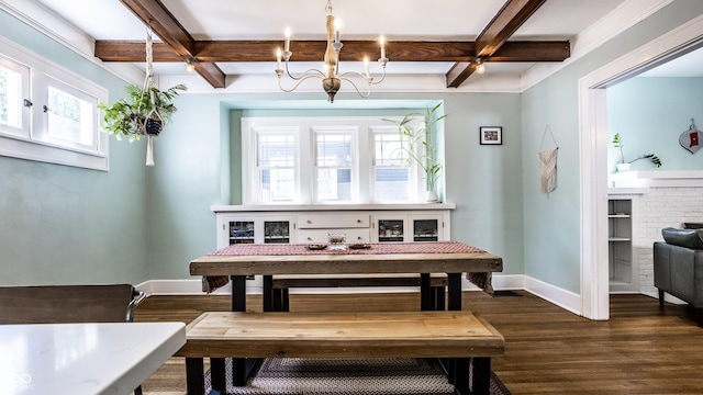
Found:
<path fill-rule="evenodd" d="M 423 173 L 383 119 L 242 119 L 243 203 L 422 201 Z"/>

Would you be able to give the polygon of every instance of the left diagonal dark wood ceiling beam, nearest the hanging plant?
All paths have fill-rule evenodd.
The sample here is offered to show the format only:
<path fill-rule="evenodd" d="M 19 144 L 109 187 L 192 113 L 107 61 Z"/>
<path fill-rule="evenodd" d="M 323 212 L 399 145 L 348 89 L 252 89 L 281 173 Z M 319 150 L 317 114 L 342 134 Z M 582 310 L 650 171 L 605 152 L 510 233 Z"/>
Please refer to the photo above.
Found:
<path fill-rule="evenodd" d="M 159 0 L 120 1 L 145 25 L 150 26 L 154 34 L 161 38 L 181 59 L 193 57 L 194 40 Z M 216 65 L 200 64 L 196 66 L 196 71 L 214 88 L 225 87 L 224 72 Z"/>

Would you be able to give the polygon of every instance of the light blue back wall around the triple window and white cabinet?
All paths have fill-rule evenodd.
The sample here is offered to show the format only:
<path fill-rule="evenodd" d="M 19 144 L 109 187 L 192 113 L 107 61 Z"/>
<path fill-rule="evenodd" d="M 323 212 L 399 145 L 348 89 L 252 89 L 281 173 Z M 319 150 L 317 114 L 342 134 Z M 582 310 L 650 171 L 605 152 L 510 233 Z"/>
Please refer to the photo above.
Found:
<path fill-rule="evenodd" d="M 324 98 L 323 98 L 324 99 Z M 353 97 L 339 94 L 335 104 Z M 522 273 L 522 178 L 518 94 L 375 93 L 354 110 L 271 110 L 295 101 L 319 101 L 319 94 L 186 94 L 178 99 L 174 123 L 156 140 L 156 166 L 148 170 L 150 275 L 183 279 L 188 262 L 213 250 L 213 204 L 241 203 L 239 121 L 242 116 L 404 114 L 399 104 L 444 101 L 446 201 L 457 204 L 453 238 L 482 247 L 505 259 L 505 273 Z M 266 103 L 267 109 L 260 109 Z M 334 104 L 333 104 L 334 105 Z M 384 110 L 380 110 L 383 108 Z M 224 121 L 223 121 L 224 120 Z M 502 146 L 480 146 L 479 126 L 502 125 Z M 223 133 L 224 129 L 224 133 Z M 223 154 L 222 147 L 231 147 Z M 224 155 L 224 156 L 223 156 Z M 222 174 L 231 171 L 231 185 Z M 231 188 L 223 192 L 222 188 Z M 230 198 L 230 200 L 227 200 Z"/>

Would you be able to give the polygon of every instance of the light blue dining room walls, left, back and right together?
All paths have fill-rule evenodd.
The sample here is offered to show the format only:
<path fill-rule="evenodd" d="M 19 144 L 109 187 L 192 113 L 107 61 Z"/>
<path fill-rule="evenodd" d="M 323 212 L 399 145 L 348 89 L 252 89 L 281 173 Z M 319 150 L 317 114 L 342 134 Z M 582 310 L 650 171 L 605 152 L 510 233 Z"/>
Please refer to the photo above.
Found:
<path fill-rule="evenodd" d="M 443 101 L 445 201 L 457 205 L 453 238 L 502 256 L 506 274 L 578 293 L 578 80 L 702 13 L 703 2 L 677 0 L 523 94 L 375 93 L 358 102 Z M 98 81 L 111 100 L 123 94 L 114 76 L 1 12 L 0 34 Z M 0 283 L 190 279 L 188 262 L 215 248 L 210 206 L 241 202 L 235 137 L 238 120 L 253 111 L 241 103 L 291 100 L 320 98 L 183 94 L 155 142 L 154 168 L 144 167 L 145 142 L 112 139 L 109 172 L 0 157 Z M 345 100 L 353 95 L 337 98 Z M 549 198 L 539 192 L 537 167 L 547 125 L 559 145 L 558 188 Z M 502 126 L 503 145 L 479 145 L 480 126 Z"/>

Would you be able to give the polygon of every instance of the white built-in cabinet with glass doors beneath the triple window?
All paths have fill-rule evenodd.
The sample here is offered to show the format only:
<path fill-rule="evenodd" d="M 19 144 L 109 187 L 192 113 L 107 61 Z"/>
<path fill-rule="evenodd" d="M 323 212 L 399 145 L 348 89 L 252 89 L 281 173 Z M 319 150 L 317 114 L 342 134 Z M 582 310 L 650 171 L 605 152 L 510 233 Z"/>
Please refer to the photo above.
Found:
<path fill-rule="evenodd" d="M 347 242 L 450 239 L 454 204 L 213 206 L 217 248 L 234 244 L 319 244 L 330 233 Z"/>

